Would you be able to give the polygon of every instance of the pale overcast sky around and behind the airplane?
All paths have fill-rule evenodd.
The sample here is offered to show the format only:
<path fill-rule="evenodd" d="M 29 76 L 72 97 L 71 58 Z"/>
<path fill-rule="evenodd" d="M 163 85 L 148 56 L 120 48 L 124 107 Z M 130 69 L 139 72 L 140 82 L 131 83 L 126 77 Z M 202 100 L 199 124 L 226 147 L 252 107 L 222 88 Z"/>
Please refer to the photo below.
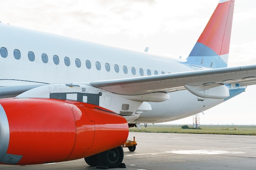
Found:
<path fill-rule="evenodd" d="M 186 58 L 219 0 L 2 0 L 15 26 Z M 228 66 L 256 64 L 256 1 L 236 0 Z M 256 124 L 256 86 L 200 114 L 200 124 Z M 184 107 L 186 107 L 184 105 Z M 174 124 L 192 124 L 189 117 Z"/>

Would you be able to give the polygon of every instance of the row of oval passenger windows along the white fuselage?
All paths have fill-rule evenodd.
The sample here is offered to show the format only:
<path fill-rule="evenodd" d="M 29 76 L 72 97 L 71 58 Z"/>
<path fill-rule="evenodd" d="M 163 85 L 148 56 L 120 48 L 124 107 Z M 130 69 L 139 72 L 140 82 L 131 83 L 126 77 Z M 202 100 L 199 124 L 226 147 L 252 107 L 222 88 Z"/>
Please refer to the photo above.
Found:
<path fill-rule="evenodd" d="M 0 55 L 3 58 L 7 57 L 8 51 L 5 47 L 0 48 Z M 20 57 L 21 57 L 20 51 L 18 49 L 13 50 L 13 56 L 16 60 L 19 60 Z M 29 51 L 27 56 L 28 56 L 29 61 L 34 62 L 35 55 L 32 51 Z M 43 63 L 48 63 L 47 54 L 43 53 L 41 58 L 42 58 Z M 53 56 L 53 62 L 56 65 L 58 65 L 60 63 L 59 57 L 57 55 Z M 69 57 L 64 57 L 64 63 L 65 63 L 66 66 L 70 66 Z M 78 68 L 81 67 L 81 61 L 78 58 L 76 58 L 75 64 L 76 64 L 76 67 L 78 67 Z M 92 64 L 89 60 L 86 60 L 85 61 L 85 66 L 86 66 L 86 68 L 90 69 L 92 67 Z M 95 66 L 96 66 L 97 70 L 101 70 L 100 62 L 95 62 Z M 110 64 L 105 63 L 105 69 L 106 69 L 106 71 L 109 72 L 110 71 Z M 119 66 L 117 64 L 114 65 L 114 70 L 115 70 L 116 73 L 119 73 Z M 126 66 L 123 66 L 123 71 L 124 71 L 125 74 L 127 74 L 128 73 L 128 68 Z M 136 69 L 134 67 L 131 67 L 131 72 L 132 72 L 133 75 L 136 75 Z M 143 71 L 142 68 L 139 68 L 139 74 L 141 76 L 144 75 L 144 71 Z M 162 71 L 161 74 L 165 74 L 165 73 Z M 152 73 L 149 69 L 147 69 L 147 75 L 152 75 Z M 158 72 L 156 70 L 154 71 L 154 75 L 158 75 Z"/>

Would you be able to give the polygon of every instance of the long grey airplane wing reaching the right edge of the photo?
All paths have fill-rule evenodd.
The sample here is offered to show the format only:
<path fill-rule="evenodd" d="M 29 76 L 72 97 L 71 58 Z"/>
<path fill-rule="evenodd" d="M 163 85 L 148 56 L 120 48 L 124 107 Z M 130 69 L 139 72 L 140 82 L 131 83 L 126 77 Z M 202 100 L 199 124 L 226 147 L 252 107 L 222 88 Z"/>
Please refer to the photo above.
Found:
<path fill-rule="evenodd" d="M 185 89 L 184 85 L 239 84 L 247 86 L 256 84 L 256 65 L 95 81 L 90 84 L 121 95 L 169 92 Z"/>

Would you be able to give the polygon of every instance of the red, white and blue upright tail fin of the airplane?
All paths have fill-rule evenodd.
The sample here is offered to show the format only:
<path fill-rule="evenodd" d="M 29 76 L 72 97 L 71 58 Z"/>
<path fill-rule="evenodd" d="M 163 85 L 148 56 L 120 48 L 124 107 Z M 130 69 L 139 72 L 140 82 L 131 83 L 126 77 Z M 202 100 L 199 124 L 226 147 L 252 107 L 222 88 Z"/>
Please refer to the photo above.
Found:
<path fill-rule="evenodd" d="M 188 62 L 208 68 L 227 67 L 235 0 L 220 0 L 195 43 Z"/>

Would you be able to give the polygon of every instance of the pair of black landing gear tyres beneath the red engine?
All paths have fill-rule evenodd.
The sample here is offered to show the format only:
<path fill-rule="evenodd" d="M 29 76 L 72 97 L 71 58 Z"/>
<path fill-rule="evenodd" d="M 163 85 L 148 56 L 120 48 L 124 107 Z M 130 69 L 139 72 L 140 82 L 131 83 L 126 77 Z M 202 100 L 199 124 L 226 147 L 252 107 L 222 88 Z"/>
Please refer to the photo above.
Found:
<path fill-rule="evenodd" d="M 124 159 L 124 150 L 121 146 L 92 155 L 85 158 L 85 162 L 90 166 L 97 166 L 100 169 L 125 168 L 122 163 Z"/>

